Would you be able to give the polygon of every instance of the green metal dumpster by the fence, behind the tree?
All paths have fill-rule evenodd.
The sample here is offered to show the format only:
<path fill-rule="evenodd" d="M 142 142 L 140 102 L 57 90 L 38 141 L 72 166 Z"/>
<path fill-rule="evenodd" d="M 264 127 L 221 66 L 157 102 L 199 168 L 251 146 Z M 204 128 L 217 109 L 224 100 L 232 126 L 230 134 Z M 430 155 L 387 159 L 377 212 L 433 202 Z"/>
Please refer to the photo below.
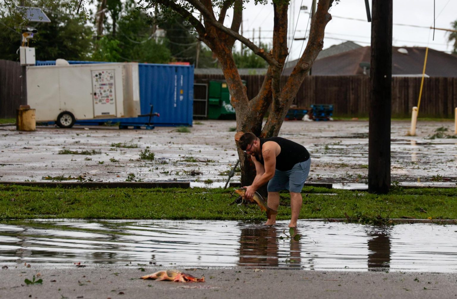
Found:
<path fill-rule="evenodd" d="M 208 82 L 208 119 L 235 119 L 235 108 L 230 104 L 225 80 Z"/>

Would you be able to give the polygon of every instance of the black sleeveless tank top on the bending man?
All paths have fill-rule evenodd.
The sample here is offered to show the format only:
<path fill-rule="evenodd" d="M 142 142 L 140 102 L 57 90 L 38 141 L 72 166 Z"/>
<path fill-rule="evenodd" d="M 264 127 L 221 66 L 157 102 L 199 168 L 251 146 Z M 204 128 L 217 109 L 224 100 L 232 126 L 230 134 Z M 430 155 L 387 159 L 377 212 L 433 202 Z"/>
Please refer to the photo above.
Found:
<path fill-rule="evenodd" d="M 267 141 L 274 141 L 281 147 L 281 153 L 279 153 L 279 155 L 276 157 L 277 170 L 291 170 L 295 164 L 304 162 L 309 159 L 308 150 L 306 150 L 303 145 L 293 142 L 289 139 L 284 139 L 282 137 L 260 139 L 260 152 L 262 151 L 263 144 Z M 255 159 L 264 165 L 263 156 L 261 158 L 255 156 Z"/>

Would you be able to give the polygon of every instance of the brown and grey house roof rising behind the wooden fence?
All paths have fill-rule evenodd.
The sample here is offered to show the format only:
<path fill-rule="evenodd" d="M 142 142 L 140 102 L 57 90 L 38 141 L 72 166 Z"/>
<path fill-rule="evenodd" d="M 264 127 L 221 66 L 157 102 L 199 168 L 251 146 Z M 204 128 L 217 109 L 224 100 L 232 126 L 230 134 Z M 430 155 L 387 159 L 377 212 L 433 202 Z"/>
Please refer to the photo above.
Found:
<path fill-rule="evenodd" d="M 422 74 L 425 50 L 420 47 L 393 47 L 392 75 Z M 314 62 L 312 75 L 364 75 L 360 64 L 370 63 L 370 58 L 369 46 L 328 56 Z M 284 74 L 291 72 L 292 68 L 289 68 Z M 365 73 L 369 75 L 369 69 Z M 457 77 L 457 57 L 429 48 L 425 74 L 430 77 Z"/>

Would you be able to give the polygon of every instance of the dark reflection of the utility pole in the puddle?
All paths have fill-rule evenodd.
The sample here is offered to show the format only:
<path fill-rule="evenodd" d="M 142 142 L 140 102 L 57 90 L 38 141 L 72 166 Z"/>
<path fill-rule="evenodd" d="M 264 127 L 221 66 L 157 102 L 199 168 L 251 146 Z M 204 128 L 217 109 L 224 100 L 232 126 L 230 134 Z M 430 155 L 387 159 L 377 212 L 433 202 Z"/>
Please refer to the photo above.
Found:
<path fill-rule="evenodd" d="M 387 229 L 386 229 L 387 230 Z M 386 271 L 390 268 L 390 239 L 385 230 L 373 229 L 367 233 L 368 271 Z"/>

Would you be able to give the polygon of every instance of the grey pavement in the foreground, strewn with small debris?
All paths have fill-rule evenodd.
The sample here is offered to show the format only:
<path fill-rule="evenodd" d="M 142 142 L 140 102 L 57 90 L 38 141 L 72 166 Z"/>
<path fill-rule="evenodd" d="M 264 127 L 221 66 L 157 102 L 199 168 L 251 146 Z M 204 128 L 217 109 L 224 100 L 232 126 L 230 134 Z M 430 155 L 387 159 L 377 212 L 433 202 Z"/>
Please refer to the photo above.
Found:
<path fill-rule="evenodd" d="M 145 268 L 141 271 L 139 268 Z M 10 264 L 0 270 L 0 298 L 455 298 L 457 275 L 423 272 L 331 272 L 248 267 L 178 269 L 205 283 L 139 277 L 165 268 Z M 40 273 L 42 285 L 26 285 Z"/>

